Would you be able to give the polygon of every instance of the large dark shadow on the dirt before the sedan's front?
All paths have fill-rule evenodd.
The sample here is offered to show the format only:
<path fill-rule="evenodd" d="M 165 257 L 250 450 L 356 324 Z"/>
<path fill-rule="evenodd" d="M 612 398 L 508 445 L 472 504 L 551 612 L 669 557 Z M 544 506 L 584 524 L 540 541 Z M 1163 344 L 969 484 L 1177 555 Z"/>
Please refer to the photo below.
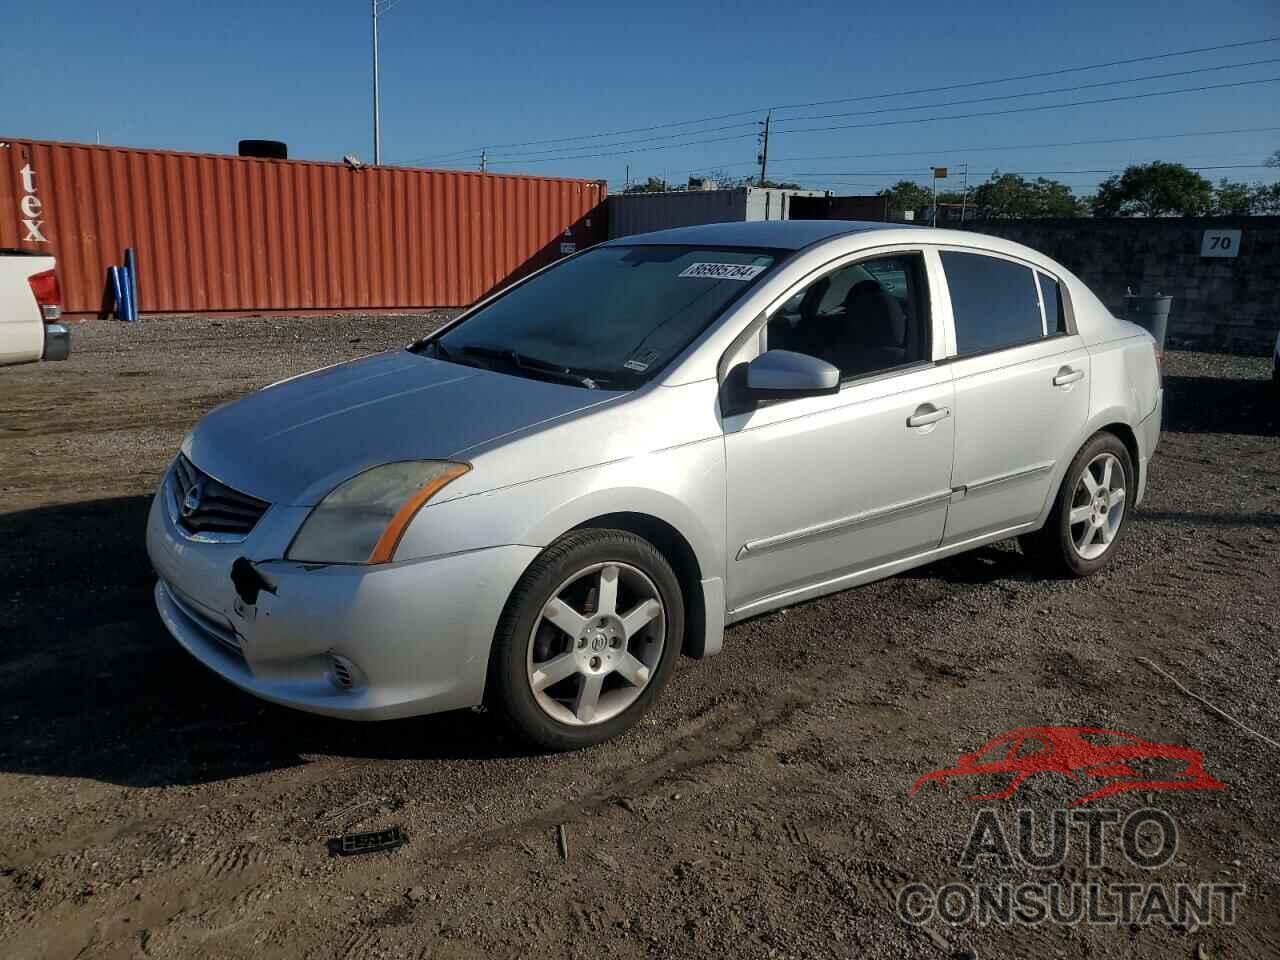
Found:
<path fill-rule="evenodd" d="M 156 616 L 148 506 L 124 497 L 0 515 L 0 771 L 169 786 L 294 767 L 308 754 L 527 753 L 486 714 L 353 723 L 220 680 Z"/>

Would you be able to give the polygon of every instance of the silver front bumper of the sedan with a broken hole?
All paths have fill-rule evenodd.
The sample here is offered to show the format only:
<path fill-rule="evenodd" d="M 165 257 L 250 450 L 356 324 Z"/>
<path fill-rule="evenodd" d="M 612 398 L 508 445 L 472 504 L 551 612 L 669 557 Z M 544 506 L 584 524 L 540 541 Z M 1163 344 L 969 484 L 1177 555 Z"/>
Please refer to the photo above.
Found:
<path fill-rule="evenodd" d="M 259 559 L 275 593 L 261 591 L 251 605 L 236 593 L 232 564 L 280 556 L 283 548 L 261 550 L 287 543 L 298 512 L 273 507 L 243 543 L 198 543 L 174 527 L 164 495 L 161 488 L 151 504 L 147 553 L 169 632 L 242 690 L 330 717 L 479 704 L 502 608 L 538 556 L 536 547 L 507 545 L 375 567 Z"/>

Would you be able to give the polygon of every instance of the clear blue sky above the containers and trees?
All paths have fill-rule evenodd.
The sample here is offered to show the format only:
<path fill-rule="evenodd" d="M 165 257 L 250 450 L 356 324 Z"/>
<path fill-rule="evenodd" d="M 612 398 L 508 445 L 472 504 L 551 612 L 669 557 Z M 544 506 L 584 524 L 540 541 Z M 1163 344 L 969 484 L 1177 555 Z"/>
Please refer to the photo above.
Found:
<path fill-rule="evenodd" d="M 371 156 L 365 0 L 10 0 L 3 14 L 0 136 L 234 152 L 241 137 L 291 156 Z M 1276 0 L 1215 4 L 847 0 L 484 3 L 398 0 L 381 19 L 384 163 L 607 179 L 754 170 L 769 105 L 867 97 L 1280 36 Z M 1235 67 L 1245 61 L 1275 63 Z M 1183 70 L 1225 69 L 936 109 Z M 931 164 L 972 182 L 1053 172 L 1078 192 L 1130 163 L 1248 165 L 1280 148 L 1280 82 L 1065 110 L 797 132 L 1280 78 L 1280 42 L 908 97 L 778 110 L 771 177 L 847 193 Z M 806 115 L 882 113 L 822 120 Z M 754 111 L 570 143 L 500 146 Z M 721 129 L 726 128 L 726 129 Z M 1253 133 L 1042 147 L 1202 131 Z M 796 131 L 796 132 L 791 132 Z M 678 136 L 671 136 L 678 134 Z M 660 140 L 660 137 L 667 137 Z M 689 143 L 716 140 L 709 143 Z M 671 147 L 653 150 L 649 147 Z M 965 150 L 961 147 L 979 147 Z M 1001 148 L 995 147 L 1019 147 Z M 564 159 L 571 154 L 612 156 Z M 806 159 L 827 157 L 827 159 Z M 426 164 L 434 160 L 436 163 Z M 1061 173 L 1059 173 L 1061 172 Z M 1207 170 L 1272 182 L 1277 170 Z M 959 186 L 959 180 L 951 182 Z"/>

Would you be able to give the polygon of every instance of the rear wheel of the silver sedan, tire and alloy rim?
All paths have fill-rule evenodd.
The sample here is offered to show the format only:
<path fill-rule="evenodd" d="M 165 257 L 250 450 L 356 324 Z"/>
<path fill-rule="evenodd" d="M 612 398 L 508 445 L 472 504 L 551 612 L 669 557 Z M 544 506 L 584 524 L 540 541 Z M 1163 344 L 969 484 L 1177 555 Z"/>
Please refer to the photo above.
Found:
<path fill-rule="evenodd" d="M 1100 495 L 1084 480 L 1085 470 L 1089 470 L 1092 484 L 1101 488 L 1100 481 L 1108 463 L 1110 485 L 1106 494 Z M 1123 472 L 1123 477 L 1116 475 L 1116 470 Z M 1111 562 L 1129 524 L 1133 512 L 1130 492 L 1134 489 L 1129 449 L 1115 434 L 1094 434 L 1071 460 L 1044 526 L 1018 539 L 1023 553 L 1055 576 L 1087 577 L 1097 573 Z M 1076 522 L 1071 522 L 1073 516 Z"/>

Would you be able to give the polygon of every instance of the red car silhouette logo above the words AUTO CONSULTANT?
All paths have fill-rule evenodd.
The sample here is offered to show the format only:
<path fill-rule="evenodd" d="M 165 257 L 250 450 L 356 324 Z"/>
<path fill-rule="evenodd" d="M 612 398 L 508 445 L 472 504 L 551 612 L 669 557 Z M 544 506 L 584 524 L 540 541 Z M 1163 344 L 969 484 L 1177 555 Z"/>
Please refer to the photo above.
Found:
<path fill-rule="evenodd" d="M 1148 778 L 1134 769 L 1135 762 L 1165 760 L 1181 764 L 1165 778 Z M 1224 790 L 1226 785 L 1204 772 L 1199 750 L 1172 744 L 1155 744 L 1132 733 L 1101 727 L 1019 727 L 987 741 L 972 754 L 960 754 L 955 767 L 925 773 L 911 787 L 916 790 L 937 781 L 947 786 L 950 777 L 1011 774 L 1004 790 L 970 796 L 970 800 L 1002 800 L 1036 773 L 1060 773 L 1071 780 L 1105 781 L 1102 786 L 1075 800 L 1071 806 L 1130 790 Z"/>

